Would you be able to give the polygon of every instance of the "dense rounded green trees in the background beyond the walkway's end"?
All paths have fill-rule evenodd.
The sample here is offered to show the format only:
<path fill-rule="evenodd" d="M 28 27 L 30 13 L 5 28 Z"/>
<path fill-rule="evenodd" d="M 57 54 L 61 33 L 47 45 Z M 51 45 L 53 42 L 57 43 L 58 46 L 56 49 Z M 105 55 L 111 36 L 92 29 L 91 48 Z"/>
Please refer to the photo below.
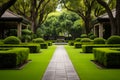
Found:
<path fill-rule="evenodd" d="M 49 14 L 37 34 L 41 32 L 46 36 L 66 36 L 73 38 L 80 37 L 83 32 L 81 18 L 73 12 L 62 11 Z"/>

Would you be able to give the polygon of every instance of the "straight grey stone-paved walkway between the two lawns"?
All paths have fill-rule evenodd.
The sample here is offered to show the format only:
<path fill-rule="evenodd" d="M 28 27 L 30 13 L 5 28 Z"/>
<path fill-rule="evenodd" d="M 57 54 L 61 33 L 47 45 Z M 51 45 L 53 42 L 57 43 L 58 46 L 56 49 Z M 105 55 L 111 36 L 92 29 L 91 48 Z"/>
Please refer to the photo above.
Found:
<path fill-rule="evenodd" d="M 80 80 L 64 46 L 57 46 L 42 80 Z"/>

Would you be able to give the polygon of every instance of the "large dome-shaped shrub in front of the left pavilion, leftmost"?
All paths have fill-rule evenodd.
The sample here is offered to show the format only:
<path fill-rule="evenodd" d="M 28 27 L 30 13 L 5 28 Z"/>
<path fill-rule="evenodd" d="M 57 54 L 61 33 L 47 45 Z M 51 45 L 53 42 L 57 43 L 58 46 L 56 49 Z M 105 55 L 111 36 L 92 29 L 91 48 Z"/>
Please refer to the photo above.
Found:
<path fill-rule="evenodd" d="M 15 36 L 9 36 L 4 39 L 4 44 L 20 44 L 21 41 L 18 37 Z"/>

